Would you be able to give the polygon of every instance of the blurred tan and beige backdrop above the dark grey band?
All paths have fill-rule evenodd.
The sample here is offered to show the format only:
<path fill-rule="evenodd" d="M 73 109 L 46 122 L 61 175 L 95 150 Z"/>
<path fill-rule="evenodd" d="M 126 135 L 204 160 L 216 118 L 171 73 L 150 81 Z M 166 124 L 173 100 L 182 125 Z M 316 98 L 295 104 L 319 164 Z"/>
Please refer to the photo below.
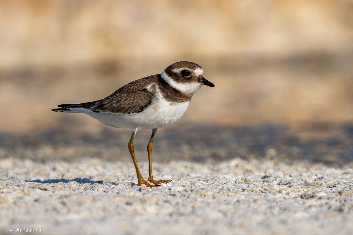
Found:
<path fill-rule="evenodd" d="M 181 60 L 216 88 L 175 126 L 351 123 L 352 12 L 351 0 L 1 1 L 0 131 L 103 128 L 50 109 Z"/>

